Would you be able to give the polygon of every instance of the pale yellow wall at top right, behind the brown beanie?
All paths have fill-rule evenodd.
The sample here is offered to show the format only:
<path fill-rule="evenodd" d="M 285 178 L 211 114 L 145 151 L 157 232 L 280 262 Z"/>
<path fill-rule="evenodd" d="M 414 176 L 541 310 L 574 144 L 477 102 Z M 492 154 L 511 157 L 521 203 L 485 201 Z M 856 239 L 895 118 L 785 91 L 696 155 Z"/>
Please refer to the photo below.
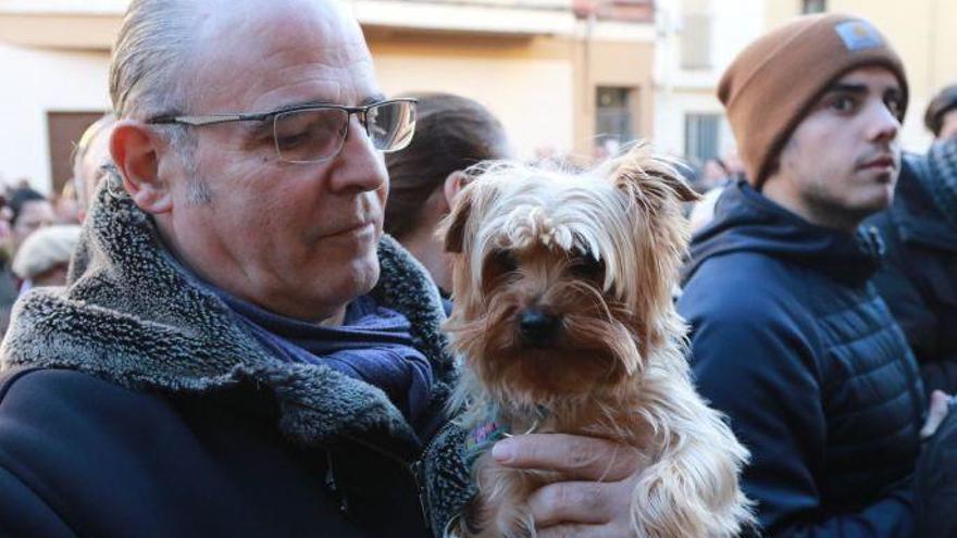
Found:
<path fill-rule="evenodd" d="M 768 0 L 768 27 L 799 11 L 799 0 Z M 910 85 L 902 138 L 907 149 L 924 149 L 930 142 L 923 126 L 924 109 L 943 86 L 957 83 L 957 1 L 829 0 L 828 11 L 866 17 L 900 54 Z"/>

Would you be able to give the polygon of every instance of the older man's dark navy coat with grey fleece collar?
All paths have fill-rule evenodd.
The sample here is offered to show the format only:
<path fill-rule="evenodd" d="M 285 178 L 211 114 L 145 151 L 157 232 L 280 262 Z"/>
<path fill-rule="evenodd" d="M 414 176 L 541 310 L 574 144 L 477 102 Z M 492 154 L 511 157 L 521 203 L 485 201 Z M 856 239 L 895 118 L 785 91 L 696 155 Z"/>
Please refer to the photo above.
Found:
<path fill-rule="evenodd" d="M 435 374 L 413 429 L 382 390 L 270 355 L 156 237 L 100 191 L 72 284 L 17 303 L 0 536 L 423 537 L 420 496 L 440 533 L 467 493 L 461 434 L 436 435 L 453 370 L 421 266 L 384 238 L 372 293 L 410 320 Z"/>

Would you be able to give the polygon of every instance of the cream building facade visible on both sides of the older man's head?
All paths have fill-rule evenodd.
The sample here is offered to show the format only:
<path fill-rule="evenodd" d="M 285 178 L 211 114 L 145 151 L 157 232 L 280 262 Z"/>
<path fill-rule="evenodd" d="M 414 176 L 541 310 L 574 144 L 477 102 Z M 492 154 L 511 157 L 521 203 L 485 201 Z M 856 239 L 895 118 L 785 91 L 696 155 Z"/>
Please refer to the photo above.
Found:
<path fill-rule="evenodd" d="M 0 180 L 45 192 L 109 107 L 127 0 L 0 0 Z M 654 135 L 651 0 L 347 0 L 386 93 L 487 105 L 519 157 L 593 155 Z"/>

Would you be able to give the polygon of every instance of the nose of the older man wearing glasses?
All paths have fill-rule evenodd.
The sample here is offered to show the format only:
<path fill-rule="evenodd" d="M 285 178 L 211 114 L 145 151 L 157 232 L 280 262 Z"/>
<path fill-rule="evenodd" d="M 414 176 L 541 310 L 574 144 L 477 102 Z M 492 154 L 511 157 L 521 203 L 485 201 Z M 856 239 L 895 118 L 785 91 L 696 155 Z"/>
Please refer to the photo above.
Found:
<path fill-rule="evenodd" d="M 343 149 L 333 160 L 330 187 L 334 191 L 364 192 L 386 185 L 387 175 L 382 154 L 372 146 L 365 127 L 355 115 L 349 118 L 349 129 Z"/>

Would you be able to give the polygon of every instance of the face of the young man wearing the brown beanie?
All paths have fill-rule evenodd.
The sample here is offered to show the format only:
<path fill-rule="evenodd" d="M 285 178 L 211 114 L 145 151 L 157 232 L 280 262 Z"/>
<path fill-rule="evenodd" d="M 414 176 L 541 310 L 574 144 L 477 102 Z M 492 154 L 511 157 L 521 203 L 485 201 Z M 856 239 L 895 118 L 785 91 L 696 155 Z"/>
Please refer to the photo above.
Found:
<path fill-rule="evenodd" d="M 861 67 L 832 84 L 781 152 L 766 193 L 811 223 L 854 230 L 890 205 L 900 170 L 897 78 Z M 772 185 L 772 183 L 778 183 Z"/>

